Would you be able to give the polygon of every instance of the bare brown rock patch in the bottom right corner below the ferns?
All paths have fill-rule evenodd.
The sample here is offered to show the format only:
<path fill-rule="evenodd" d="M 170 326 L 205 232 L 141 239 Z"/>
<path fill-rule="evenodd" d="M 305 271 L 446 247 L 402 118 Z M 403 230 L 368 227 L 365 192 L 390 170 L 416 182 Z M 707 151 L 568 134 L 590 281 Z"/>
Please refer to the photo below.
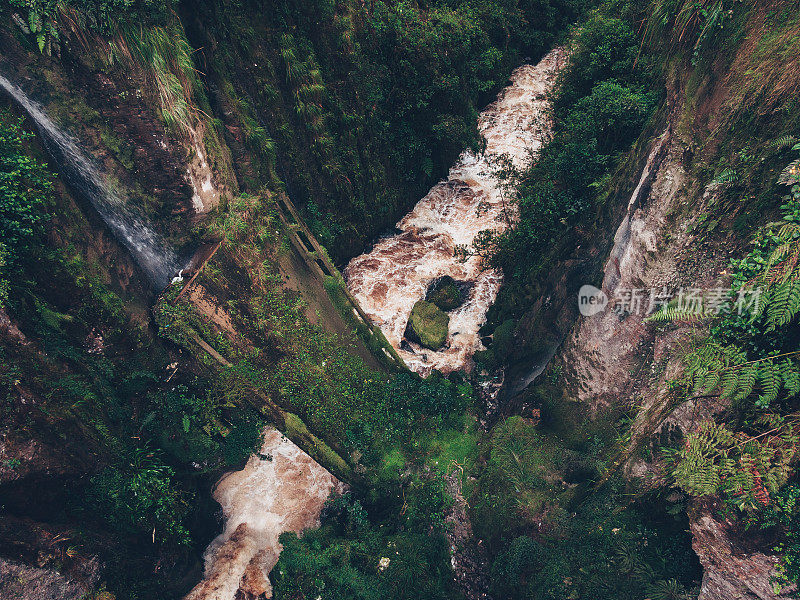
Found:
<path fill-rule="evenodd" d="M 731 526 L 717 520 L 710 503 L 697 502 L 691 523 L 692 548 L 703 565 L 698 600 L 778 600 L 794 598 L 794 590 L 776 593 L 771 580 L 776 556 L 748 552 Z"/>

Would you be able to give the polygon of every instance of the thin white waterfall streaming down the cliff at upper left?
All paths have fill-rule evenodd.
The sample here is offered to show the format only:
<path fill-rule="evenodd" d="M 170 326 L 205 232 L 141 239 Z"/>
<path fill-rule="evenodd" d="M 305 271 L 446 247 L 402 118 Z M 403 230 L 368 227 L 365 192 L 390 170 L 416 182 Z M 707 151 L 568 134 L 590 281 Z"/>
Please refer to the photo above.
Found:
<path fill-rule="evenodd" d="M 42 106 L 0 75 L 4 89 L 36 124 L 44 145 L 64 179 L 95 208 L 116 238 L 128 249 L 152 283 L 163 288 L 180 269 L 175 251 L 147 221 L 134 214 L 117 190 L 112 189 L 97 165 L 77 142 L 56 125 Z"/>

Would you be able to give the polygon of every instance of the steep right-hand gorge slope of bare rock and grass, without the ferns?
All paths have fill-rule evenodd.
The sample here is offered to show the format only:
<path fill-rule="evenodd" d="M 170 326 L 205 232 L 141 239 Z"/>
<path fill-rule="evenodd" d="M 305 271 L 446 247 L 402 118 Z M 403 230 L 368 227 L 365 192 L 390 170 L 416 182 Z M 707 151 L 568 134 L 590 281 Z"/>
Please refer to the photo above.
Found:
<path fill-rule="evenodd" d="M 546 300 L 517 321 L 516 345 L 525 350 L 511 354 L 516 383 L 509 386 L 507 410 L 541 410 L 549 422 L 569 411 L 595 427 L 624 427 L 600 480 L 621 473 L 646 498 L 675 483 L 662 447 L 688 447 L 689 441 L 676 440 L 697 435 L 714 417 L 732 418 L 736 407 L 713 386 L 690 393 L 681 387 L 685 357 L 703 343 L 708 320 L 658 326 L 646 319 L 670 301 L 670 307 L 702 305 L 713 314 L 734 283 L 732 260 L 747 254 L 759 225 L 779 218 L 785 200 L 775 182 L 789 158 L 775 140 L 798 131 L 792 6 L 732 6 L 711 33 L 702 23 L 715 13 L 698 17 L 699 25 L 679 25 L 683 12 L 661 22 L 659 11 L 670 9 L 653 3 L 644 44 L 654 44 L 665 65 L 666 101 L 607 184 L 603 211 L 593 222 L 581 221 L 569 240 L 573 257 L 556 260 L 540 278 Z M 580 231 L 587 226 L 591 231 Z M 602 303 L 582 315 L 584 285 L 596 286 L 587 294 Z M 562 337 L 545 375 L 520 393 L 548 354 L 537 344 L 547 340 L 552 347 Z M 785 402 L 783 410 L 791 412 L 791 393 Z M 678 508 L 688 499 L 669 497 Z M 749 517 L 731 517 L 725 506 L 718 498 L 689 502 L 693 546 L 704 568 L 700 598 L 791 597 L 791 586 L 781 594 L 774 585 L 774 530 L 747 532 L 742 523 Z"/>

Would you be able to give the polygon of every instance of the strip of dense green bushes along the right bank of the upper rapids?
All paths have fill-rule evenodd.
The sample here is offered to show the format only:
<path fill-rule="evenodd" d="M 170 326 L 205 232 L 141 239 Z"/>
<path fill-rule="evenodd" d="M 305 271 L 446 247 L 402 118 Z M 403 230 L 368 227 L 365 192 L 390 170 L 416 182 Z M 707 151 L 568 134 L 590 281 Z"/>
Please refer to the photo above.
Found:
<path fill-rule="evenodd" d="M 552 139 L 527 170 L 511 176 L 518 221 L 503 234 L 480 236 L 471 249 L 503 269 L 495 313 L 524 310 L 543 267 L 602 209 L 609 173 L 654 110 L 652 59 L 636 33 L 639 10 L 606 3 L 582 25 L 553 94 Z"/>

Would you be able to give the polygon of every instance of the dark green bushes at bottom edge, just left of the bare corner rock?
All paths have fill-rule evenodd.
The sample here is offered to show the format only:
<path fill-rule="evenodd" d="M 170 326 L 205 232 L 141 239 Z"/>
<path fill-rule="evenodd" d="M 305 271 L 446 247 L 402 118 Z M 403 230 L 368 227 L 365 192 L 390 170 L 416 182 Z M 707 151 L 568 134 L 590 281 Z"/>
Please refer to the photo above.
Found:
<path fill-rule="evenodd" d="M 694 597 L 696 559 L 681 526 L 668 515 L 653 514 L 644 500 L 626 504 L 621 489 L 610 487 L 589 497 L 576 513 L 550 514 L 538 539 L 521 536 L 511 541 L 492 567 L 496 596 Z"/>

